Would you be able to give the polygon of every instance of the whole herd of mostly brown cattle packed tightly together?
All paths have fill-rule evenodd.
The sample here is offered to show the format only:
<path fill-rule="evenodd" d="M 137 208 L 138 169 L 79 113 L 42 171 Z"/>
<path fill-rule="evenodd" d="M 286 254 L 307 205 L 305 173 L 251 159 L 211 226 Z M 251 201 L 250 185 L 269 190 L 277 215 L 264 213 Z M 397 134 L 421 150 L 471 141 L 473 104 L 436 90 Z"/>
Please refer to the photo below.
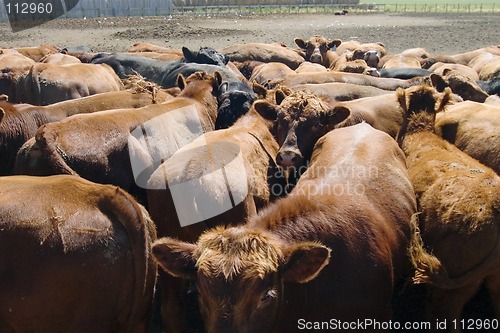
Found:
<path fill-rule="evenodd" d="M 0 332 L 500 315 L 500 46 L 295 43 L 1 49 Z"/>

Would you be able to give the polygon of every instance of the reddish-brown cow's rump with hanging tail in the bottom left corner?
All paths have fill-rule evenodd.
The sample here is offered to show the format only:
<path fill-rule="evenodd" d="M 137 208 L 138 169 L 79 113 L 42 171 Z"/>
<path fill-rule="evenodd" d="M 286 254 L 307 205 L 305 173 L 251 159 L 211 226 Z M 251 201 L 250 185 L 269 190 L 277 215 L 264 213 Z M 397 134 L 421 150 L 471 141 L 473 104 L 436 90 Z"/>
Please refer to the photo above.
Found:
<path fill-rule="evenodd" d="M 155 239 L 115 186 L 0 177 L 0 331 L 147 332 Z"/>

